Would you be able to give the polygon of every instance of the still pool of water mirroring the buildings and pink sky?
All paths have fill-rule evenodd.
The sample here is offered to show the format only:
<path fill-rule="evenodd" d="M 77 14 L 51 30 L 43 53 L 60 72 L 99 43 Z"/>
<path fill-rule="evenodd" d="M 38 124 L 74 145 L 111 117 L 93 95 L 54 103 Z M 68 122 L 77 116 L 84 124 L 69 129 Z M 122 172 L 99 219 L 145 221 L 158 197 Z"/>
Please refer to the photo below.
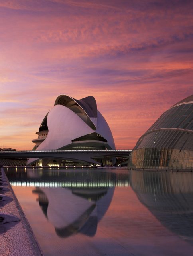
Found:
<path fill-rule="evenodd" d="M 5 169 L 45 256 L 193 255 L 193 173 Z"/>

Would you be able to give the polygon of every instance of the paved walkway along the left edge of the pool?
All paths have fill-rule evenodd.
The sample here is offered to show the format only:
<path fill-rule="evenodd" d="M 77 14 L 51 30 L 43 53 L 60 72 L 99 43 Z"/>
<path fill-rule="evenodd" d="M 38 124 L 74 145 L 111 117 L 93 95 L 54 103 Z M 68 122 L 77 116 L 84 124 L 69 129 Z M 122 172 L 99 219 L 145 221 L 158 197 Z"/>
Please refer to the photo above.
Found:
<path fill-rule="evenodd" d="M 2 176 L 5 176 L 8 191 L 0 191 L 0 194 L 10 196 L 13 200 L 0 201 L 0 213 L 14 214 L 20 221 L 0 224 L 0 255 L 1 256 L 42 256 L 43 253 L 33 235 L 30 225 L 26 220 L 22 208 L 11 188 L 11 185 L 1 168 Z M 35 218 L 35 216 L 34 216 Z"/>

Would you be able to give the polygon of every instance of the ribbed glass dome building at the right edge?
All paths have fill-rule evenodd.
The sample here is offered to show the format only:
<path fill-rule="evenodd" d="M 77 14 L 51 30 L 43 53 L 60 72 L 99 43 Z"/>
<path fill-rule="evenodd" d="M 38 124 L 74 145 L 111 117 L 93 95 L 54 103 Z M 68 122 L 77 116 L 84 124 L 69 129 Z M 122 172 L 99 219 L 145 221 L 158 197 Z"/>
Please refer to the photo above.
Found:
<path fill-rule="evenodd" d="M 128 168 L 193 170 L 193 95 L 171 106 L 139 138 Z"/>

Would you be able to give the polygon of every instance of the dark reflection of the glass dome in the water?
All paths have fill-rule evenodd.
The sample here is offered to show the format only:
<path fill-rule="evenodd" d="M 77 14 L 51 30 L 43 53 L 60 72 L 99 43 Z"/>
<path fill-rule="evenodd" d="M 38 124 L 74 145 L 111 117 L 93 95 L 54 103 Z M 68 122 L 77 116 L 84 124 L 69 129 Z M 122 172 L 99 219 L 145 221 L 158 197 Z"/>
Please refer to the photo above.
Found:
<path fill-rule="evenodd" d="M 193 242 L 193 173 L 131 170 L 130 184 L 163 226 Z"/>

